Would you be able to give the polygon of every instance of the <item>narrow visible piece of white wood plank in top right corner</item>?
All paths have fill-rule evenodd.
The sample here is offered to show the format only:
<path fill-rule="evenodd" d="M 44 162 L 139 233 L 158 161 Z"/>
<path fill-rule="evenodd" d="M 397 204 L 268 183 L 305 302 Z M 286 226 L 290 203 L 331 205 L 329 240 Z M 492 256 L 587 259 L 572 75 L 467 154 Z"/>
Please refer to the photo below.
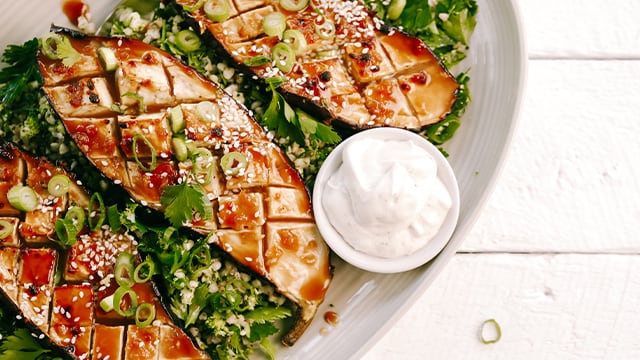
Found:
<path fill-rule="evenodd" d="M 639 1 L 518 0 L 534 58 L 640 57 Z"/>

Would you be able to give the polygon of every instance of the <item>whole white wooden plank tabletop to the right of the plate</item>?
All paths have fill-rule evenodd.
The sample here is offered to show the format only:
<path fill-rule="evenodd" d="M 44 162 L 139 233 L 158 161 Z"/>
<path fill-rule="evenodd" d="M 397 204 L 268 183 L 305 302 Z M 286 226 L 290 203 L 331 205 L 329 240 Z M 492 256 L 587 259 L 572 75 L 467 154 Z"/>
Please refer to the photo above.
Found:
<path fill-rule="evenodd" d="M 508 161 L 366 360 L 640 359 L 640 1 L 516 1 L 530 61 Z"/>

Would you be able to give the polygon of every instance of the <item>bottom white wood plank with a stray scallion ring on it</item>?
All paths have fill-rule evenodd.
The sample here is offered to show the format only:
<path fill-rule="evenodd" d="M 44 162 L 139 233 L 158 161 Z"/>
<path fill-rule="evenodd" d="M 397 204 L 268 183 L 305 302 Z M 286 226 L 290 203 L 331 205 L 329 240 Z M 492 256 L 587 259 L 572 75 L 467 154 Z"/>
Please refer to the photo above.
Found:
<path fill-rule="evenodd" d="M 629 255 L 456 255 L 364 359 L 638 359 L 639 272 Z"/>

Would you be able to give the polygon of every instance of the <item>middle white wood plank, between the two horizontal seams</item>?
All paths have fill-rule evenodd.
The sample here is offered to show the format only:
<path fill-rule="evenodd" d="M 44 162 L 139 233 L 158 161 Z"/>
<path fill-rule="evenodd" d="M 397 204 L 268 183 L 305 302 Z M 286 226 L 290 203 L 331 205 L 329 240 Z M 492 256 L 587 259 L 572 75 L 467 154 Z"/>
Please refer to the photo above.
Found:
<path fill-rule="evenodd" d="M 461 251 L 640 253 L 640 61 L 529 71 L 510 156 Z"/>

